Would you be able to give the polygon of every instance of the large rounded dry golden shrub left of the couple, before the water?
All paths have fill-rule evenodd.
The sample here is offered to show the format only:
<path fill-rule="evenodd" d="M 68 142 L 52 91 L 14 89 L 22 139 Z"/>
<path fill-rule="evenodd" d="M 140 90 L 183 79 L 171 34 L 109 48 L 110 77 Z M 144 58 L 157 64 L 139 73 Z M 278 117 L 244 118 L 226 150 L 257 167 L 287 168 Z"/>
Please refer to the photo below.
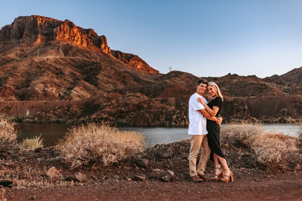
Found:
<path fill-rule="evenodd" d="M 61 161 L 75 168 L 88 162 L 100 161 L 106 166 L 129 159 L 142 152 L 145 144 L 143 135 L 135 131 L 88 123 L 69 130 L 57 148 Z"/>

